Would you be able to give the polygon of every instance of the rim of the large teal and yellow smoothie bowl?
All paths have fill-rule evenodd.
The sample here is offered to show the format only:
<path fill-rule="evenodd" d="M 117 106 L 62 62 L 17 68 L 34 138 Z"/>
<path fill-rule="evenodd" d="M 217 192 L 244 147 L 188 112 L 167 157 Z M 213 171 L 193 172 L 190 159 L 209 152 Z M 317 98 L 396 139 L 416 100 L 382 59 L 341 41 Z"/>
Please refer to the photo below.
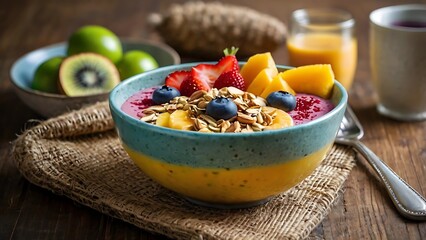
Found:
<path fill-rule="evenodd" d="M 131 78 L 128 78 L 126 81 L 121 82 L 120 84 L 118 84 L 114 89 L 112 89 L 112 91 L 109 94 L 108 100 L 109 100 L 109 106 L 110 106 L 110 110 L 111 110 L 111 114 L 117 114 L 117 116 L 121 119 L 124 119 L 124 121 L 127 121 L 129 124 L 137 126 L 137 127 L 143 127 L 143 128 L 149 128 L 150 131 L 153 132 L 158 132 L 161 134 L 167 134 L 167 135 L 175 135 L 175 136 L 186 136 L 186 137 L 220 137 L 220 138 L 241 138 L 241 137 L 261 137 L 261 136 L 271 136 L 271 135 L 276 135 L 276 134 L 282 134 L 284 132 L 287 131 L 294 131 L 294 130 L 299 130 L 299 129 L 304 129 L 304 128 L 310 128 L 312 125 L 317 125 L 319 123 L 322 123 L 324 121 L 326 121 L 328 118 L 336 115 L 338 112 L 340 111 L 344 111 L 344 108 L 346 108 L 347 105 L 347 101 L 348 101 L 348 93 L 346 92 L 345 88 L 337 81 L 334 80 L 334 86 L 333 89 L 337 88 L 339 89 L 340 93 L 341 93 L 341 99 L 338 102 L 338 104 L 328 113 L 326 113 L 325 115 L 312 120 L 310 122 L 307 123 L 303 123 L 303 124 L 299 124 L 299 125 L 294 125 L 291 127 L 287 127 L 287 128 L 282 128 L 282 129 L 276 129 L 273 131 L 261 131 L 261 132 L 244 132 L 244 133 L 204 133 L 204 132 L 196 132 L 196 131 L 182 131 L 182 130 L 178 130 L 178 129 L 172 129 L 172 128 L 167 128 L 167 127 L 161 127 L 161 126 L 156 126 L 150 123 L 146 123 L 143 122 L 137 118 L 134 118 L 126 113 L 124 113 L 121 110 L 121 106 L 117 106 L 116 101 L 114 101 L 114 97 L 118 94 L 118 92 L 120 91 L 120 89 L 124 88 L 126 85 L 131 84 L 134 81 L 138 81 L 140 78 L 146 76 L 146 75 L 151 75 L 151 74 L 155 74 L 157 72 L 163 72 L 163 71 L 169 71 L 171 72 L 171 70 L 177 70 L 180 68 L 188 68 L 188 67 L 192 67 L 195 66 L 197 64 L 200 63 L 208 63 L 208 62 L 192 62 L 192 63 L 184 63 L 184 64 L 178 64 L 178 65 L 173 65 L 173 66 L 166 66 L 166 67 L 160 67 L 158 69 L 154 69 L 150 72 L 146 72 L 146 73 L 141 73 L 138 75 L 135 75 Z M 245 63 L 245 62 L 239 62 L 240 64 Z M 292 67 L 286 66 L 286 65 L 277 65 L 277 68 L 281 68 L 281 69 L 291 69 Z M 333 90 L 334 91 L 334 90 Z M 136 92 L 134 92 L 136 93 Z M 133 93 L 133 94 L 134 94 Z"/>

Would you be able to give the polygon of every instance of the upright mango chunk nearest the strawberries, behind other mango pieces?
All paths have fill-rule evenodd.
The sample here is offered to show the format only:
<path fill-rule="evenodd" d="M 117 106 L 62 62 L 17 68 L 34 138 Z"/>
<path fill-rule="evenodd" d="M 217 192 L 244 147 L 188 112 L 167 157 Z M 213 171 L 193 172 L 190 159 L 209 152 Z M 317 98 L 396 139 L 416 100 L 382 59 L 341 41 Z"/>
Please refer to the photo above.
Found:
<path fill-rule="evenodd" d="M 241 68 L 240 74 L 244 78 L 246 86 L 250 86 L 256 76 L 265 68 L 272 69 L 272 75 L 278 74 L 275 61 L 270 52 L 259 53 L 251 56 Z"/>

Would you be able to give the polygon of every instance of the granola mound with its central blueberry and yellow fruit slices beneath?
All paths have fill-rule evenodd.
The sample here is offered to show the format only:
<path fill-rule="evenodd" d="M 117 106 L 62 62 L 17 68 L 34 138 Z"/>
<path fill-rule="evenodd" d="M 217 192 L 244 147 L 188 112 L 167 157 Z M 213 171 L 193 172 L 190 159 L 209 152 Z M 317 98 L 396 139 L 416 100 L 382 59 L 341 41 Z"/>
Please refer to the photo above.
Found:
<path fill-rule="evenodd" d="M 168 117 L 167 114 L 170 113 Z M 293 125 L 289 115 L 235 87 L 200 90 L 142 110 L 141 121 L 198 132 L 258 132 Z"/>

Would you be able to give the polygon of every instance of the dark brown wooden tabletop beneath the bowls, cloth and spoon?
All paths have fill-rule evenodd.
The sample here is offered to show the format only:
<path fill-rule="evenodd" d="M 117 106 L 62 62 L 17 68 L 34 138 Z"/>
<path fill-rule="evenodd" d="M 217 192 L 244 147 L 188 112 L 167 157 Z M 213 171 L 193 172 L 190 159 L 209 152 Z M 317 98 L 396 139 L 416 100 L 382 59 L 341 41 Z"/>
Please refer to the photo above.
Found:
<path fill-rule="evenodd" d="M 0 7 L 0 239 L 166 239 L 113 219 L 63 196 L 30 184 L 11 158 L 12 141 L 32 119 L 42 119 L 12 91 L 9 70 L 28 51 L 65 41 L 76 28 L 100 24 L 120 37 L 161 41 L 147 26 L 149 12 L 171 0 L 14 0 Z M 179 1 L 183 2 L 183 1 Z M 298 8 L 333 6 L 349 10 L 357 21 L 359 60 L 349 102 L 365 127 L 363 142 L 426 195 L 426 121 L 405 123 L 377 114 L 370 82 L 368 15 L 403 0 L 232 0 L 269 13 L 285 23 Z M 411 1 L 423 2 L 425 1 Z M 423 49 L 424 51 L 425 49 Z M 273 52 L 287 64 L 287 50 Z M 395 56 L 396 58 L 398 56 Z M 403 67 L 403 66 L 402 66 Z M 424 67 L 424 66 L 419 66 Z M 397 96 L 395 96 L 397 97 Z M 359 158 L 342 197 L 311 234 L 324 239 L 426 239 L 426 223 L 402 218 L 372 169 Z"/>

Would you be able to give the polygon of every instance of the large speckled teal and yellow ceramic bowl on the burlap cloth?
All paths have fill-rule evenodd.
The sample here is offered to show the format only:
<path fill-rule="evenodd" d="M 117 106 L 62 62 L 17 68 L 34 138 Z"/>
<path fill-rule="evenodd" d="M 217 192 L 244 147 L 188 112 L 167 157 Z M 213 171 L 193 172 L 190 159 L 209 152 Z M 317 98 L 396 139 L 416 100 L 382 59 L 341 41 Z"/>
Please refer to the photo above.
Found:
<path fill-rule="evenodd" d="M 121 110 L 134 93 L 162 85 L 169 73 L 196 64 L 143 73 L 111 91 L 110 109 L 124 149 L 154 181 L 198 204 L 249 207 L 295 186 L 325 158 L 347 104 L 347 93 L 337 81 L 331 112 L 306 124 L 273 131 L 180 131 L 142 122 Z"/>

